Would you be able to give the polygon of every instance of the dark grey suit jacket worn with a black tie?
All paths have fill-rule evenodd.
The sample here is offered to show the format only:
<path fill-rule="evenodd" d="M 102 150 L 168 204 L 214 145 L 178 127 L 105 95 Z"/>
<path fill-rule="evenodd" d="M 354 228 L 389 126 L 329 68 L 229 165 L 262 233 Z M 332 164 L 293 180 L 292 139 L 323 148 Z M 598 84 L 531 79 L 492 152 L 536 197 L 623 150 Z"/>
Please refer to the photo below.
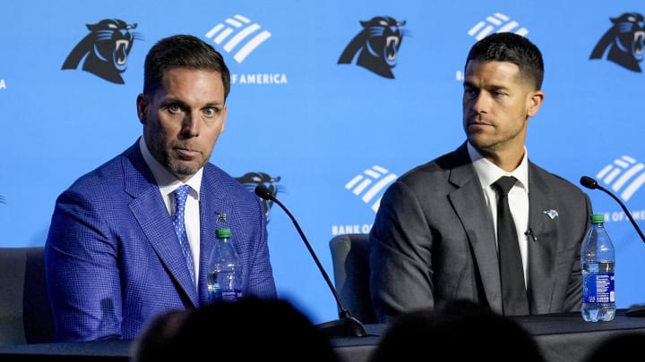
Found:
<path fill-rule="evenodd" d="M 531 314 L 581 309 L 581 242 L 591 203 L 529 161 Z M 370 233 L 370 286 L 381 322 L 470 299 L 502 311 L 495 229 L 466 143 L 391 184 Z"/>

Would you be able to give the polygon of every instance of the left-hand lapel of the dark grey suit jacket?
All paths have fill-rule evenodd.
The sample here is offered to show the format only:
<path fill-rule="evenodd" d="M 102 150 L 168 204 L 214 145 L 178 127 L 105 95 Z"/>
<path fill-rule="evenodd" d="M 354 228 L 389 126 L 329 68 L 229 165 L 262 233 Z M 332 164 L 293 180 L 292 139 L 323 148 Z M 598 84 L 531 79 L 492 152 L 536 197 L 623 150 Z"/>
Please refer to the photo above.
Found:
<path fill-rule="evenodd" d="M 466 147 L 458 150 L 461 157 L 467 157 Z M 470 246 L 475 255 L 488 305 L 497 312 L 502 312 L 502 290 L 500 284 L 499 263 L 495 230 L 482 186 L 471 163 L 460 162 L 450 174 L 450 181 L 458 187 L 449 195 L 452 206 L 468 234 Z"/>

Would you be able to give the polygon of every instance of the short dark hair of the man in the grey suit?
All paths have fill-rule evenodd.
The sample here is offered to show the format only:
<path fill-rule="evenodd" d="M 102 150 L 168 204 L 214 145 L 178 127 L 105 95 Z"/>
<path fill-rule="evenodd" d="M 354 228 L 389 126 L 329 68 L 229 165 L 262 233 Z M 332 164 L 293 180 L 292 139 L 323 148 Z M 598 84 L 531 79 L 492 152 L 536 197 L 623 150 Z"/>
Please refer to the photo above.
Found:
<path fill-rule="evenodd" d="M 503 32 L 479 40 L 470 48 L 466 65 L 476 62 L 510 62 L 520 68 L 520 74 L 529 80 L 535 90 L 542 88 L 544 61 L 538 46 L 521 35 Z"/>

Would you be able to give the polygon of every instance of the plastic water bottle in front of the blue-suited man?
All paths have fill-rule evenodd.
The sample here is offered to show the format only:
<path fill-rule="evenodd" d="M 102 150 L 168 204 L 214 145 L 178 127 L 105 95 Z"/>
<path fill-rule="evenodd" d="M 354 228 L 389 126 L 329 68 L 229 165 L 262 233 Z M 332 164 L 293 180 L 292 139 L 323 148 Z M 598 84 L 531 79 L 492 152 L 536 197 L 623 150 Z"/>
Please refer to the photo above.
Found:
<path fill-rule="evenodd" d="M 209 259 L 209 302 L 235 302 L 242 298 L 239 259 L 230 241 L 230 229 L 221 228 L 216 233 L 217 241 Z"/>

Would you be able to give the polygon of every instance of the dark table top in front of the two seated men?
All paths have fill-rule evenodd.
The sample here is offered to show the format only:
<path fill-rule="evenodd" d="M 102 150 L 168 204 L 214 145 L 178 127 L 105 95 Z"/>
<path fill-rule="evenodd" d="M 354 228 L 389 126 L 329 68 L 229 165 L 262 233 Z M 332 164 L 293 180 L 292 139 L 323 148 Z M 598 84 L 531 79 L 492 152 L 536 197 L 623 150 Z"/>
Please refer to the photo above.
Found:
<path fill-rule="evenodd" d="M 598 345 L 624 333 L 644 333 L 645 316 L 629 316 L 619 309 L 610 322 L 591 323 L 580 313 L 516 316 L 531 334 L 549 362 L 583 361 Z M 363 337 L 332 337 L 331 343 L 344 361 L 366 362 L 386 332 L 386 324 L 364 324 Z M 0 360 L 118 360 L 130 357 L 132 341 L 87 341 L 0 346 Z M 430 349 L 430 347 L 428 347 Z"/>

